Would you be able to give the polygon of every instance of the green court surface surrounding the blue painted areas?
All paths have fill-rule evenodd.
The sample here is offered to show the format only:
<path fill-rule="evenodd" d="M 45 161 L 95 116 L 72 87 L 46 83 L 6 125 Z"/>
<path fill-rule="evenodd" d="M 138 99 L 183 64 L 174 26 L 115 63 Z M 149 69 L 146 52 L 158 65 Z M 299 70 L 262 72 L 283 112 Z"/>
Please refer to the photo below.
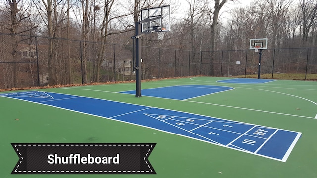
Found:
<path fill-rule="evenodd" d="M 0 97 L 0 178 L 317 178 L 317 82 L 217 82 L 225 79 L 232 78 L 193 77 L 142 82 L 142 89 L 176 85 L 234 88 L 187 100 L 144 95 L 136 98 L 119 93 L 134 90 L 135 83 L 37 91 L 170 109 L 302 133 L 286 162 L 138 125 Z M 21 91 L 0 94 L 12 92 Z M 79 104 L 89 106 L 89 103 Z M 156 143 L 149 157 L 156 174 L 12 175 L 19 158 L 11 143 Z"/>

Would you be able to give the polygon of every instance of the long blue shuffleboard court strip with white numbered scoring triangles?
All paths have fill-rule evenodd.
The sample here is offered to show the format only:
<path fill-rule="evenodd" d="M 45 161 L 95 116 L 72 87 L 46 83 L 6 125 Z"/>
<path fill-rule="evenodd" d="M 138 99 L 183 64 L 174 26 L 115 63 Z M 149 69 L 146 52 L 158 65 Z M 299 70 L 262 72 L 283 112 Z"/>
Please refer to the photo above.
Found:
<path fill-rule="evenodd" d="M 282 162 L 286 162 L 301 136 L 283 129 L 68 94 L 27 91 L 3 93 L 0 97 L 152 128 Z"/>

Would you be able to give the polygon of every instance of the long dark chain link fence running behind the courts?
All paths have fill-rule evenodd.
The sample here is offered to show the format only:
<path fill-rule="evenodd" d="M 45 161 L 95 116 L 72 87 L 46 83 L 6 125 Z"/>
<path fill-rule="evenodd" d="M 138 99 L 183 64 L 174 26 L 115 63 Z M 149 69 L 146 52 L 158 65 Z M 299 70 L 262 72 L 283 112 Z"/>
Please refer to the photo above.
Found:
<path fill-rule="evenodd" d="M 135 80 L 133 45 L 0 34 L 0 89 Z M 50 45 L 53 44 L 53 45 Z M 51 46 L 51 47 L 49 47 Z M 257 74 L 252 50 L 189 51 L 143 46 L 142 79 Z M 261 74 L 317 74 L 317 48 L 266 49 Z M 51 76 L 51 78 L 49 78 Z"/>

